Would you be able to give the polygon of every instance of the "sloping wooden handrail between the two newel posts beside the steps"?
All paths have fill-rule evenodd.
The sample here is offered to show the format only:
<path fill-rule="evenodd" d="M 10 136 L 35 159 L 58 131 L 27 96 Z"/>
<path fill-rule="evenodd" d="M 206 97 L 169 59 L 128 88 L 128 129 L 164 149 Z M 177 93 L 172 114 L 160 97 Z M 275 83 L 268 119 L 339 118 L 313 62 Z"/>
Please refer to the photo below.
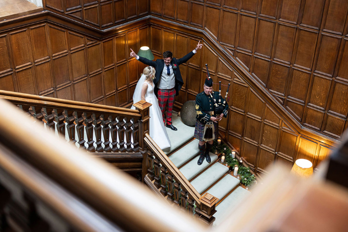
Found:
<path fill-rule="evenodd" d="M 187 178 L 179 171 L 179 169 L 174 165 L 172 160 L 160 149 L 160 147 L 155 143 L 155 141 L 150 137 L 149 134 L 145 135 L 144 138 L 147 145 L 151 150 L 156 153 L 157 157 L 160 158 L 161 162 L 171 171 L 175 179 L 186 189 L 186 191 L 193 197 L 198 206 L 201 205 L 200 198 L 201 195 L 192 186 L 192 184 L 187 180 Z"/>

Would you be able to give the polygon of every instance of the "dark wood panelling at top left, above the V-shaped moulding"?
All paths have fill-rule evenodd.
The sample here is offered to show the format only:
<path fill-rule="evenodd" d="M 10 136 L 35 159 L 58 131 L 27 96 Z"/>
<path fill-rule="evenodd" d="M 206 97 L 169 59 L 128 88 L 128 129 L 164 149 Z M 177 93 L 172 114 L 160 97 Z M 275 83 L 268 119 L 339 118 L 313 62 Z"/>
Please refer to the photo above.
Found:
<path fill-rule="evenodd" d="M 44 8 L 104 30 L 149 13 L 149 0 L 43 0 Z"/>

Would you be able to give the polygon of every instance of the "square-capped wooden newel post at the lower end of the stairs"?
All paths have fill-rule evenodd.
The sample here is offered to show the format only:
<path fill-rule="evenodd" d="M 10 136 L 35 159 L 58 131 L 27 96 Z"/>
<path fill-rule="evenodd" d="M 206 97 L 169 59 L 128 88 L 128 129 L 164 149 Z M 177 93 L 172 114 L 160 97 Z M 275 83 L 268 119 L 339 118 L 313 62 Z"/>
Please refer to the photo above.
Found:
<path fill-rule="evenodd" d="M 199 209 L 198 207 L 196 208 L 196 213 L 199 214 L 199 220 L 205 224 L 212 225 L 215 221 L 215 217 L 213 217 L 216 213 L 215 206 L 219 199 L 209 193 L 205 193 L 199 198 L 199 201 L 201 202 L 200 207 Z"/>

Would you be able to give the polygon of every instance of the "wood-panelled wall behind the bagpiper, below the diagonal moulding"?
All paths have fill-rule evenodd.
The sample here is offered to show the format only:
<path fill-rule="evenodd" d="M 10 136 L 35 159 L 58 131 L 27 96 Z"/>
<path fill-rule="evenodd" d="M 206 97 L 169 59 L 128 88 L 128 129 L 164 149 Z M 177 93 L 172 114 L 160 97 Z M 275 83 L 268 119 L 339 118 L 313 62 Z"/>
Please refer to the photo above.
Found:
<path fill-rule="evenodd" d="M 181 58 L 195 48 L 199 37 L 189 36 L 187 31 L 180 32 L 152 25 L 151 48 L 156 58 L 163 51 L 173 51 L 174 57 Z M 203 91 L 206 78 L 205 64 L 215 83 L 231 84 L 229 114 L 220 121 L 220 133 L 243 159 L 260 175 L 268 165 L 283 162 L 289 169 L 298 158 L 306 158 L 316 167 L 332 151 L 333 143 L 325 139 L 318 141 L 298 131 L 281 112 L 277 111 L 249 83 L 250 80 L 233 68 L 231 60 L 222 57 L 209 41 L 204 41 L 202 50 L 187 64 L 180 65 L 184 85 L 176 97 L 175 106 L 187 100 L 194 100 Z M 218 85 L 214 87 L 218 90 Z M 222 94 L 227 87 L 222 86 Z M 318 137 L 317 137 L 318 138 Z"/>

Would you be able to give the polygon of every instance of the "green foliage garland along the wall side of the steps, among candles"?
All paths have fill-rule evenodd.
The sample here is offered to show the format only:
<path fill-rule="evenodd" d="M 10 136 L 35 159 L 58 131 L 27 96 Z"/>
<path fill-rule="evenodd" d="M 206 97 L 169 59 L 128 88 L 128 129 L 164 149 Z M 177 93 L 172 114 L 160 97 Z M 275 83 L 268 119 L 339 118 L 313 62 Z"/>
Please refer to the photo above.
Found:
<path fill-rule="evenodd" d="M 256 177 L 254 174 L 251 173 L 250 167 L 245 167 L 243 164 L 241 164 L 238 160 L 238 158 L 232 158 L 232 155 L 230 155 L 231 149 L 225 145 L 225 144 L 217 144 L 217 141 L 214 140 L 213 147 L 210 150 L 211 153 L 222 154 L 225 153 L 225 160 L 227 164 L 234 168 L 234 166 L 238 165 L 238 174 L 241 176 L 241 183 L 244 184 L 247 187 L 250 187 L 252 184 L 255 184 Z"/>

